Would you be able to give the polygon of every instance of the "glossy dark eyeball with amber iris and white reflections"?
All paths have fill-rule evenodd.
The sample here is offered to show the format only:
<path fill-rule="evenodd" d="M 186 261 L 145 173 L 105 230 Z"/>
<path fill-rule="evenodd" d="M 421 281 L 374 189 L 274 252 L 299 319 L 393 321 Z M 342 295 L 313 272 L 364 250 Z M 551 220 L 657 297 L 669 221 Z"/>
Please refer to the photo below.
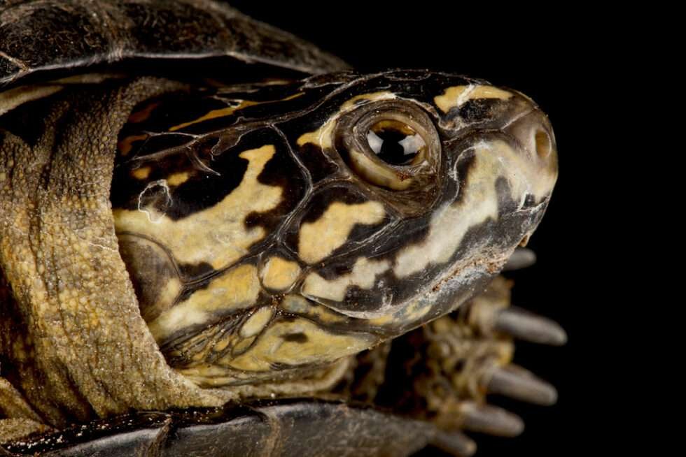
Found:
<path fill-rule="evenodd" d="M 367 143 L 379 159 L 391 165 L 408 165 L 425 146 L 414 129 L 398 121 L 377 122 L 367 132 Z"/>

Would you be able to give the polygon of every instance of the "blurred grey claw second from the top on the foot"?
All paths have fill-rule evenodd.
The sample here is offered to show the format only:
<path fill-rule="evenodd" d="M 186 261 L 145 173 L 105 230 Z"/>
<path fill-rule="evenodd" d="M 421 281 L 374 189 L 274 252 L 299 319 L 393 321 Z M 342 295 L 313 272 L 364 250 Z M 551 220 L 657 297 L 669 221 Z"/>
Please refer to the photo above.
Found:
<path fill-rule="evenodd" d="M 561 346 L 567 342 L 567 333 L 557 322 L 514 306 L 497 312 L 493 330 L 539 344 Z"/>

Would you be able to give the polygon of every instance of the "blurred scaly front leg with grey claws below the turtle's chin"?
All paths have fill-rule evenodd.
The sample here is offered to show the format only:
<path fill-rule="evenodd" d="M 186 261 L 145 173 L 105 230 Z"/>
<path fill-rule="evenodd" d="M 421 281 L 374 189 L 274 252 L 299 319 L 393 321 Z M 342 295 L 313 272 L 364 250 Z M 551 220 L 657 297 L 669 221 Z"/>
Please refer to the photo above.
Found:
<path fill-rule="evenodd" d="M 522 260 L 522 259 L 519 259 Z M 524 259 L 526 260 L 526 259 Z M 435 424 L 449 440 L 433 445 L 470 455 L 476 444 L 461 430 L 512 437 L 524 429 L 512 412 L 489 405 L 489 394 L 552 405 L 553 386 L 512 363 L 514 338 L 563 344 L 553 321 L 510 305 L 512 284 L 496 277 L 456 312 L 358 356 L 344 396 Z M 381 373 L 379 375 L 379 373 Z"/>

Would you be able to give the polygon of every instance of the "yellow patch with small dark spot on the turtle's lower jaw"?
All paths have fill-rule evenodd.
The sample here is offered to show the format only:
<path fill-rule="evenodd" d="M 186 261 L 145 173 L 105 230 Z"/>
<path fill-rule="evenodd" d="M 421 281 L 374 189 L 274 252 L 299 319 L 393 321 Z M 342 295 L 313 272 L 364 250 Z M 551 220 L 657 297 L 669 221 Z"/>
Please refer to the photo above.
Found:
<path fill-rule="evenodd" d="M 296 338 L 289 340 L 288 335 Z M 335 361 L 363 351 L 373 343 L 371 335 L 330 333 L 307 319 L 277 320 L 251 349 L 235 358 L 221 358 L 219 363 L 235 370 L 269 371 L 274 363 L 302 365 Z"/>

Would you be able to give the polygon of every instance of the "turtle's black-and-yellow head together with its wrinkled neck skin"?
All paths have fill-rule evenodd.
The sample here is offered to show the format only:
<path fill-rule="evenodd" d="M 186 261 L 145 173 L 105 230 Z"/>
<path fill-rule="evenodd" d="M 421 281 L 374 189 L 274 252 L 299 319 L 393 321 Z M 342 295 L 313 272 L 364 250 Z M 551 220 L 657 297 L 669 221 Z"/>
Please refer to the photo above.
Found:
<path fill-rule="evenodd" d="M 0 137 L 0 267 L 15 298 L 2 304 L 0 375 L 52 425 L 325 390 L 346 368 L 336 361 L 482 291 L 535 230 L 556 179 L 545 115 L 483 81 L 394 71 L 225 88 L 211 115 L 184 120 L 177 108 L 160 133 L 186 143 L 136 149 L 154 116 L 140 128 L 127 118 L 176 89 L 146 78 L 56 89 L 40 102 L 41 125 Z M 155 106 L 176 103 L 164 97 Z M 433 154 L 409 178 L 379 168 L 353 136 L 388 107 L 416 121 Z M 115 169 L 118 142 L 120 156 L 134 148 Z M 188 169 L 165 162 L 178 150 Z M 196 178 L 235 182 L 218 201 L 183 200 Z M 153 252 L 137 250 L 151 239 L 190 278 L 164 307 L 134 290 L 132 265 L 146 265 L 136 252 Z M 227 284 L 242 302 L 208 300 Z M 184 358 L 188 335 L 254 327 L 258 311 L 268 325 L 240 355 Z M 180 326 L 180 315 L 193 322 Z M 295 327 L 300 336 L 286 338 Z M 304 377 L 286 380 L 294 373 Z"/>

